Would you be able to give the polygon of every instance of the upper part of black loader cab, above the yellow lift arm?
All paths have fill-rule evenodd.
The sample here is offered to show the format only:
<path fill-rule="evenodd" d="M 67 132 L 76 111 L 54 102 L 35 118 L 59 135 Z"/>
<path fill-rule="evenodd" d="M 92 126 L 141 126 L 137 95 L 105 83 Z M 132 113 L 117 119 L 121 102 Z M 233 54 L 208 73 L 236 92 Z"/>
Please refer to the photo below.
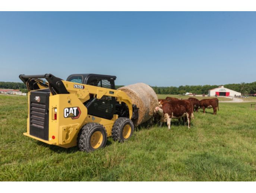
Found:
<path fill-rule="evenodd" d="M 101 74 L 71 74 L 67 77 L 67 81 L 73 83 L 88 84 L 107 89 L 115 89 L 115 80 L 116 76 Z"/>

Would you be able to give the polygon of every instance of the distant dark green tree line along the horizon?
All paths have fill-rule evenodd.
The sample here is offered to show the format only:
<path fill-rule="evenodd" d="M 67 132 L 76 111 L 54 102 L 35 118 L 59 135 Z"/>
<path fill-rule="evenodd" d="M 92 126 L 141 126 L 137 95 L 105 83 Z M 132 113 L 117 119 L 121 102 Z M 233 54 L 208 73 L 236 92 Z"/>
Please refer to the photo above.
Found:
<path fill-rule="evenodd" d="M 179 86 L 179 87 L 157 87 L 152 86 L 155 93 L 157 94 L 184 94 L 184 93 L 195 93 L 195 94 L 208 94 L 208 90 L 215 89 L 221 85 L 197 85 L 197 86 Z M 248 94 L 256 93 L 256 82 L 253 83 L 240 83 L 240 84 L 224 84 L 227 89 L 235 90 L 242 94 L 246 92 Z M 116 89 L 122 86 L 116 86 Z M 1 89 L 19 89 L 25 92 L 26 86 L 24 83 L 14 83 L 14 82 L 0 82 Z"/>

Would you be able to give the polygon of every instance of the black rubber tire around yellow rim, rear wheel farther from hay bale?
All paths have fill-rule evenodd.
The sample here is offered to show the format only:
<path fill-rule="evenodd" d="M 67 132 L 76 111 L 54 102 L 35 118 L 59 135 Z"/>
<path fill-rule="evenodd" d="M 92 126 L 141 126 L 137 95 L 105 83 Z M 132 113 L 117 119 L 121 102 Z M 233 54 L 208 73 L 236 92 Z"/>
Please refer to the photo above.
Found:
<path fill-rule="evenodd" d="M 103 135 L 103 141 L 102 141 L 102 144 L 99 146 L 99 148 L 105 147 L 107 142 L 107 132 L 104 126 L 99 123 L 87 123 L 80 129 L 78 134 L 77 144 L 78 144 L 78 149 L 80 151 L 91 152 L 96 150 L 92 148 L 90 144 L 91 136 L 95 131 L 100 131 Z"/>

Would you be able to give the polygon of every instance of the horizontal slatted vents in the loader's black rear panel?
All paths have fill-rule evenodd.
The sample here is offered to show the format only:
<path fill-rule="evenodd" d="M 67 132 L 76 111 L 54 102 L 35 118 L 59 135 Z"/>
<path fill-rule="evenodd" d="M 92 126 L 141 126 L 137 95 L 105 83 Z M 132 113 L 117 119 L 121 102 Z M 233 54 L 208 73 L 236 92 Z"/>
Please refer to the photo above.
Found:
<path fill-rule="evenodd" d="M 45 104 L 31 102 L 30 125 L 44 128 Z"/>

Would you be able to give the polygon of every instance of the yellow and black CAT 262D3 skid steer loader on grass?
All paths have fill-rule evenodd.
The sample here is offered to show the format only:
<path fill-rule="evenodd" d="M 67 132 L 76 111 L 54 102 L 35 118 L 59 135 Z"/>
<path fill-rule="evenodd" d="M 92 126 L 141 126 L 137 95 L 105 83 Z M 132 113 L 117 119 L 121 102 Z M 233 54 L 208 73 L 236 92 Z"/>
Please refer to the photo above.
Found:
<path fill-rule="evenodd" d="M 19 75 L 28 89 L 24 135 L 64 148 L 94 151 L 107 137 L 123 142 L 134 131 L 138 108 L 115 90 L 116 76 L 72 74 L 64 81 L 52 74 Z M 45 80 L 42 80 L 44 78 Z"/>

